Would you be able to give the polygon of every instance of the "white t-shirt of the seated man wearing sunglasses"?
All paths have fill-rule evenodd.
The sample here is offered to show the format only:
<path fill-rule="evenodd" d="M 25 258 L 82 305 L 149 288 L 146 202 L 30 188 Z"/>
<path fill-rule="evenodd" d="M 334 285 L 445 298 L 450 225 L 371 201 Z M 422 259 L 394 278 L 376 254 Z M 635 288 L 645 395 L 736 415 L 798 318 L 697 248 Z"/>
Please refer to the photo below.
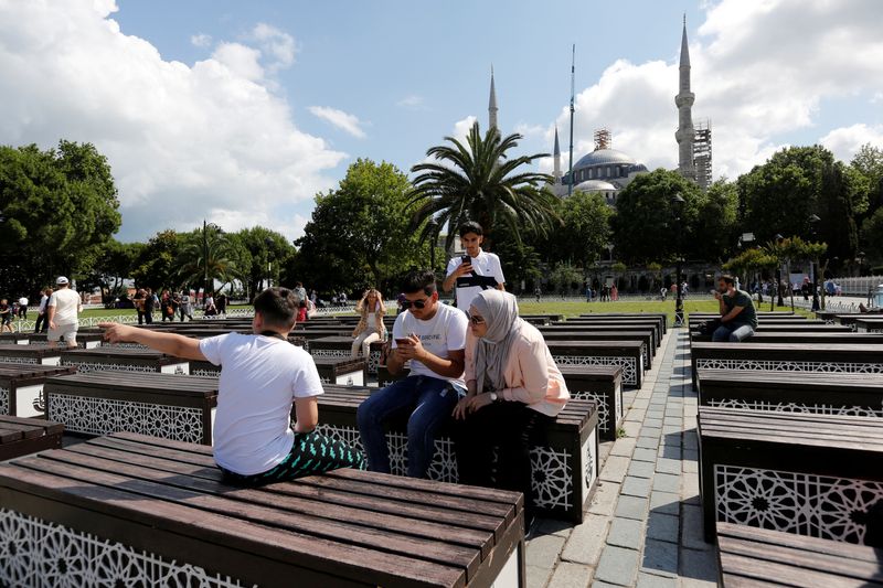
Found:
<path fill-rule="evenodd" d="M 469 323 L 466 313 L 440 302 L 436 308 L 435 316 L 428 321 L 415 319 L 409 310 L 398 314 L 393 325 L 393 349 L 398 346 L 396 339 L 406 339 L 412 333 L 421 338 L 426 351 L 443 360 L 448 359 L 449 351 L 466 349 L 466 327 Z M 458 377 L 440 376 L 416 360 L 411 360 L 411 375 L 437 377 L 466 386 L 462 374 Z"/>

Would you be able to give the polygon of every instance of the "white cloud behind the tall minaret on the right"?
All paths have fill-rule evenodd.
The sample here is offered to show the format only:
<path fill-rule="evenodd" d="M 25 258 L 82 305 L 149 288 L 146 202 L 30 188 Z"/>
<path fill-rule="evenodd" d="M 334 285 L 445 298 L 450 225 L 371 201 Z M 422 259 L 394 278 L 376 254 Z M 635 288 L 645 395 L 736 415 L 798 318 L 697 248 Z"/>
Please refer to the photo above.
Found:
<path fill-rule="evenodd" d="M 690 39 L 690 56 L 693 118 L 711 119 L 714 175 L 734 178 L 763 162 L 781 147 L 783 136 L 817 126 L 826 100 L 883 92 L 880 22 L 883 3 L 862 0 L 708 4 L 699 35 Z M 670 60 L 617 61 L 577 95 L 575 159 L 593 149 L 592 133 L 604 126 L 613 131 L 614 148 L 649 168 L 677 165 L 675 26 Z M 560 128 L 567 118 L 562 107 Z"/>

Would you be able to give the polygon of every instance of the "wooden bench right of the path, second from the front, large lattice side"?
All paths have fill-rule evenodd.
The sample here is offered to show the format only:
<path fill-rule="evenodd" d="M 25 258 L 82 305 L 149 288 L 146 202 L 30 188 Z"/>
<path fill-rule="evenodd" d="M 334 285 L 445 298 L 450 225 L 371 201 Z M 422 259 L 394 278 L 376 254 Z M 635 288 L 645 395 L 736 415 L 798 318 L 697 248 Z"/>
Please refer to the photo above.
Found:
<path fill-rule="evenodd" d="M 883 524 L 879 418 L 701 406 L 699 436 L 705 541 L 724 522 L 863 544 Z"/>

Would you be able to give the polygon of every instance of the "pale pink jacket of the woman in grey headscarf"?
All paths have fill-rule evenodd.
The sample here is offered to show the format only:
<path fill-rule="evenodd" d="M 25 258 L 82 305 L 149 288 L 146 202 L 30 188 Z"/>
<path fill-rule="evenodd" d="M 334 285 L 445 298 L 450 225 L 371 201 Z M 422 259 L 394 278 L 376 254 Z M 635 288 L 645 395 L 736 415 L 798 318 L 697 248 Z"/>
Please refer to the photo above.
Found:
<path fill-rule="evenodd" d="M 478 339 L 471 330 L 467 331 L 467 383 L 478 378 L 475 363 L 477 343 Z M 526 322 L 522 322 L 521 335 L 512 344 L 504 373 L 507 387 L 497 393 L 506 400 L 524 403 L 539 413 L 554 417 L 571 398 L 564 376 L 555 365 L 542 333 Z"/>

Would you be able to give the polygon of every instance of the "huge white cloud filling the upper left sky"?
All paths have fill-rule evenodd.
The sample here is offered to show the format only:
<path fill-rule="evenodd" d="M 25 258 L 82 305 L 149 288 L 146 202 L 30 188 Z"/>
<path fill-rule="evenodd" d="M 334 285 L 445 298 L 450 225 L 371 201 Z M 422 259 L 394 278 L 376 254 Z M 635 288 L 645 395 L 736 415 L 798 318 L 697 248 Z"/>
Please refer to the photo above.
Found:
<path fill-rule="evenodd" d="M 256 50 L 226 43 L 193 65 L 163 61 L 107 18 L 115 9 L 64 2 L 58 18 L 56 1 L 0 2 L 0 142 L 95 143 L 119 189 L 124 239 L 203 217 L 230 231 L 277 220 L 292 238 L 297 213 L 347 156 L 295 126 Z"/>

